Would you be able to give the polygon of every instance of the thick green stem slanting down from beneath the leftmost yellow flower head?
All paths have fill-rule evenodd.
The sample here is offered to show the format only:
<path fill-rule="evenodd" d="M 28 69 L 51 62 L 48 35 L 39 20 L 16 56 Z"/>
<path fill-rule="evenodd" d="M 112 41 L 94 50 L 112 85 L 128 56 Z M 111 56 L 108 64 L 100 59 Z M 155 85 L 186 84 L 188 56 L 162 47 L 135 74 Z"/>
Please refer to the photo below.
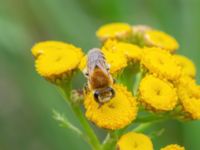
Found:
<path fill-rule="evenodd" d="M 70 95 L 71 87 L 68 86 L 68 85 L 70 85 L 70 84 L 65 83 L 65 84 L 60 86 L 65 100 L 67 101 L 67 103 L 72 108 L 74 114 L 76 115 L 80 124 L 82 125 L 84 132 L 87 134 L 88 142 L 91 145 L 91 147 L 94 150 L 101 150 L 100 142 L 99 142 L 96 134 L 94 133 L 93 129 L 91 128 L 89 122 L 87 121 L 87 119 L 83 115 L 83 112 L 81 111 L 79 105 L 75 104 L 73 102 L 73 100 L 71 99 L 71 95 Z"/>

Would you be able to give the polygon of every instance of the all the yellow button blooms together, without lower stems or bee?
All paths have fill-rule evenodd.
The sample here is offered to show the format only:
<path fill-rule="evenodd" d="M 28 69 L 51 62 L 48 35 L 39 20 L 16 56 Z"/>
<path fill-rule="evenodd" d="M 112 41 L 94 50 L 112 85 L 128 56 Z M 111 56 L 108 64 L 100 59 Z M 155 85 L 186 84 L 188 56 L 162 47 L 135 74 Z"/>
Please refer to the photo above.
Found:
<path fill-rule="evenodd" d="M 102 42 L 100 49 L 110 65 L 110 73 L 117 80 L 113 85 L 116 95 L 99 107 L 93 92 L 86 93 L 83 104 L 88 120 L 114 131 L 133 123 L 140 108 L 155 114 L 176 112 L 179 119 L 200 119 L 196 68 L 187 57 L 175 54 L 179 44 L 173 37 L 148 26 L 126 23 L 104 25 L 96 35 Z M 87 63 L 87 55 L 81 48 L 57 41 L 37 43 L 32 54 L 37 72 L 58 86 L 83 71 Z M 128 72 L 141 73 L 138 86 L 132 89 L 136 93 L 120 82 L 128 66 L 139 66 Z M 153 150 L 148 136 L 133 131 L 122 135 L 116 145 L 119 150 Z M 161 150 L 184 148 L 169 145 Z"/>

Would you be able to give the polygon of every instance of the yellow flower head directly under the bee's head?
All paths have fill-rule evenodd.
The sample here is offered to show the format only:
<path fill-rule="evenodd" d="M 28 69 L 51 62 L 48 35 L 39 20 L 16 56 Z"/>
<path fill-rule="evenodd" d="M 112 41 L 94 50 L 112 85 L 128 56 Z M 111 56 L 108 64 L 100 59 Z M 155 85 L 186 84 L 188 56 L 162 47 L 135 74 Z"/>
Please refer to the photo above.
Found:
<path fill-rule="evenodd" d="M 101 107 L 94 100 L 93 92 L 89 92 L 85 95 L 84 106 L 89 120 L 101 128 L 116 130 L 127 126 L 136 118 L 137 106 L 135 98 L 124 86 L 114 84 L 113 89 L 114 98 Z"/>

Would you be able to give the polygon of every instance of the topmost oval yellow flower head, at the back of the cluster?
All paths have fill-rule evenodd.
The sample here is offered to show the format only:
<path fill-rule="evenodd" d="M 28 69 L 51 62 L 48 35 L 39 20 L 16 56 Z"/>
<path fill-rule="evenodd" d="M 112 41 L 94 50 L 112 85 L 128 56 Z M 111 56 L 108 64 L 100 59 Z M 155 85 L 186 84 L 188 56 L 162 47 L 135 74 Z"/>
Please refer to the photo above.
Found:
<path fill-rule="evenodd" d="M 96 35 L 97 37 L 105 41 L 109 38 L 125 39 L 132 33 L 132 28 L 126 23 L 110 23 L 100 27 Z"/>

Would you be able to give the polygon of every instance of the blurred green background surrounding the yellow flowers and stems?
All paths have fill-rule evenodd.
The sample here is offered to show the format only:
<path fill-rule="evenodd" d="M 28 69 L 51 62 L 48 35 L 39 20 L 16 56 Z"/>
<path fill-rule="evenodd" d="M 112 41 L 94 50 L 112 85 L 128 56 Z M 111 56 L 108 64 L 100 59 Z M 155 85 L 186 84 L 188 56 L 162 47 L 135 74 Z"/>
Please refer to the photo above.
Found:
<path fill-rule="evenodd" d="M 54 108 L 79 126 L 56 89 L 35 72 L 30 49 L 38 41 L 61 40 L 87 51 L 99 45 L 96 29 L 116 21 L 173 35 L 199 75 L 199 0 L 0 0 L 0 150 L 89 149 L 52 118 Z M 163 125 L 156 150 L 169 143 L 200 149 L 200 122 Z"/>

